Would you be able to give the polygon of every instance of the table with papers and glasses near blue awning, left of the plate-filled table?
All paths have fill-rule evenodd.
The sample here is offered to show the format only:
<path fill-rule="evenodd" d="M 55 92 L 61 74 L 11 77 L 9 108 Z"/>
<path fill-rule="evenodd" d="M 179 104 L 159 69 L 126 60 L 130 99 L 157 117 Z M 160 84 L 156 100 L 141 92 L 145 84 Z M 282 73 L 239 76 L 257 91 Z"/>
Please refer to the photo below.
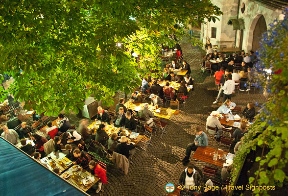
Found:
<path fill-rule="evenodd" d="M 71 164 L 70 166 L 66 165 L 66 163 L 71 161 L 71 160 L 68 159 L 66 157 L 66 154 L 64 154 L 62 152 L 56 152 L 56 155 L 54 155 L 53 152 L 51 152 L 50 153 L 50 157 L 53 160 L 53 164 L 52 165 L 49 164 L 49 160 L 48 160 L 47 156 L 42 159 L 47 164 L 47 166 L 48 166 L 48 168 L 50 170 L 53 170 L 54 168 L 59 168 L 60 173 L 62 173 L 62 172 L 65 172 L 67 169 L 69 169 L 69 168 L 71 168 L 73 166 L 73 164 Z M 59 163 L 59 160 L 56 157 L 60 157 L 60 158 L 63 157 L 61 159 L 62 160 L 62 164 Z M 73 162 L 73 161 L 71 161 L 71 162 Z"/>

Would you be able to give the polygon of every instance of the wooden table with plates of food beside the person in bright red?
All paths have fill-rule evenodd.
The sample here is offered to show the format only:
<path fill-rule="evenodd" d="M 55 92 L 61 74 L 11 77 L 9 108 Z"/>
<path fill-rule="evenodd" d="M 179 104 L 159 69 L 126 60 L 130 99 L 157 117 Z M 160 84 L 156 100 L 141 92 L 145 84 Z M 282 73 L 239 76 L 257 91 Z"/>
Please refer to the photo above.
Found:
<path fill-rule="evenodd" d="M 72 172 L 72 168 L 70 168 L 67 172 Z M 73 172 L 72 172 L 73 173 Z M 91 182 L 89 185 L 84 185 L 84 183 L 80 184 L 79 180 L 83 180 L 86 177 L 90 177 L 91 173 L 86 171 L 86 170 L 82 170 L 81 172 L 81 178 L 79 176 L 80 170 L 74 172 L 74 175 L 71 175 L 70 177 L 66 178 L 67 181 L 69 181 L 71 184 L 73 184 L 74 186 L 78 187 L 79 189 L 83 190 L 84 192 L 88 191 L 88 189 L 90 189 L 93 185 L 95 185 L 100 178 L 98 178 L 95 175 L 92 175 L 92 177 L 94 177 L 94 182 Z"/>

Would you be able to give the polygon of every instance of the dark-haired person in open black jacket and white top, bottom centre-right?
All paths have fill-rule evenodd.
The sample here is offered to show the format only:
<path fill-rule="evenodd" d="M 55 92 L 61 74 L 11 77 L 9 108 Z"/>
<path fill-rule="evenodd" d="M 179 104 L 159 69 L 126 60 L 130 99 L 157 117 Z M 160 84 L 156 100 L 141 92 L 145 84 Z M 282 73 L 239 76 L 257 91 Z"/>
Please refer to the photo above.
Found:
<path fill-rule="evenodd" d="M 188 164 L 188 167 L 181 173 L 179 178 L 179 186 L 178 189 L 180 189 L 181 185 L 184 185 L 187 189 L 187 192 L 197 192 L 196 190 L 192 190 L 194 186 L 199 186 L 201 183 L 201 175 L 197 170 L 195 170 L 195 167 L 192 162 Z M 188 190 L 188 188 L 191 187 L 191 190 Z M 191 193 L 192 195 L 193 193 Z M 194 194 L 193 194 L 194 195 Z"/>

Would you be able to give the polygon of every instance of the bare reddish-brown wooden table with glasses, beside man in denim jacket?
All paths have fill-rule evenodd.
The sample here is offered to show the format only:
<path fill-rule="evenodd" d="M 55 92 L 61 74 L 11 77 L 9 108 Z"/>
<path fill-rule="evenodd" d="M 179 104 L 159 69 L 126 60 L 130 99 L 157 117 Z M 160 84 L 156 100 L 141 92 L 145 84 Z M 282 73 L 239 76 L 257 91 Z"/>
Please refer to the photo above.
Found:
<path fill-rule="evenodd" d="M 197 159 L 200 161 L 204 161 L 206 163 L 210 163 L 219 167 L 223 167 L 223 163 L 226 163 L 226 160 L 222 160 L 222 156 L 224 153 L 226 153 L 226 155 L 228 154 L 228 152 L 225 152 L 223 150 L 217 150 L 218 151 L 218 155 L 221 156 L 221 159 L 219 159 L 219 156 L 217 157 L 217 161 L 213 160 L 213 152 L 216 151 L 217 149 L 214 149 L 212 147 L 197 147 L 196 151 L 194 152 L 193 155 L 193 159 Z"/>

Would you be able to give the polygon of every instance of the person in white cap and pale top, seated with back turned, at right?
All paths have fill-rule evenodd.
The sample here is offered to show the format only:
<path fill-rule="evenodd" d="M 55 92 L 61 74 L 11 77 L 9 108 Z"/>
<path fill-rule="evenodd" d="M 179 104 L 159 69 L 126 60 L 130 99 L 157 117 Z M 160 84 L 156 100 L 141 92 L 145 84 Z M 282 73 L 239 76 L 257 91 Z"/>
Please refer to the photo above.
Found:
<path fill-rule="evenodd" d="M 223 130 L 222 130 L 223 126 L 221 125 L 220 121 L 217 119 L 218 115 L 219 115 L 219 112 L 213 111 L 213 112 L 211 112 L 211 115 L 206 120 L 206 130 L 210 134 L 215 134 L 215 138 L 216 138 L 217 142 L 220 141 L 221 134 L 223 132 Z M 216 129 L 218 129 L 218 131 L 208 129 L 207 126 L 210 126 L 212 128 L 216 128 Z"/>

